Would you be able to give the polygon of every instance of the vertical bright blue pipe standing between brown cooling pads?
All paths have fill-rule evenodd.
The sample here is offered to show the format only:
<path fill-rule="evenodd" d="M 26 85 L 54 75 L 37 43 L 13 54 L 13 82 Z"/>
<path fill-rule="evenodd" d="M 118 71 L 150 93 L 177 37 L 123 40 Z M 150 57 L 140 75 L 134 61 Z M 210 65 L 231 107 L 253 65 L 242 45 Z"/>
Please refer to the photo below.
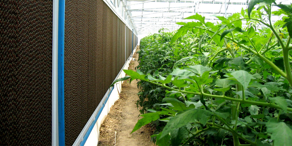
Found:
<path fill-rule="evenodd" d="M 59 132 L 59 146 L 65 146 L 64 32 L 65 32 L 65 0 L 59 0 L 59 14 L 58 14 L 58 132 Z"/>

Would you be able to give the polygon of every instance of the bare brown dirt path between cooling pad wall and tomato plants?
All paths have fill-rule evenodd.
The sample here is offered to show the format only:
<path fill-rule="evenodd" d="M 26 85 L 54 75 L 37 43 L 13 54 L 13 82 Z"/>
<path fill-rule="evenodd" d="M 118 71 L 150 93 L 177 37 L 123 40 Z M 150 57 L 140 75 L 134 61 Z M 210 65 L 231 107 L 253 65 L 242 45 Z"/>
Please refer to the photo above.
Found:
<path fill-rule="evenodd" d="M 138 49 L 136 51 L 139 51 Z M 135 70 L 138 63 L 138 53 L 134 53 L 135 60 L 131 61 L 129 69 Z M 130 134 L 137 123 L 140 114 L 136 102 L 139 99 L 137 93 L 137 81 L 125 80 L 122 84 L 121 98 L 111 107 L 110 112 L 100 128 L 100 140 L 98 145 L 115 145 L 115 131 L 117 146 L 155 146 L 150 135 L 154 129 L 151 126 L 143 126 Z"/>

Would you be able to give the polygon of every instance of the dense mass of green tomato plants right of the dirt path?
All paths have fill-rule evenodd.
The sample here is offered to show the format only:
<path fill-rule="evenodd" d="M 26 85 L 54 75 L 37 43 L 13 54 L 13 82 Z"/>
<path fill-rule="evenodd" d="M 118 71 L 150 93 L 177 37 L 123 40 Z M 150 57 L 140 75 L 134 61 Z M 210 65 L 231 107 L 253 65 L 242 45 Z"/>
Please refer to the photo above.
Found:
<path fill-rule="evenodd" d="M 139 79 L 133 131 L 156 125 L 157 145 L 291 145 L 292 5 L 251 0 L 217 18 L 141 39 L 137 72 L 119 79 Z"/>

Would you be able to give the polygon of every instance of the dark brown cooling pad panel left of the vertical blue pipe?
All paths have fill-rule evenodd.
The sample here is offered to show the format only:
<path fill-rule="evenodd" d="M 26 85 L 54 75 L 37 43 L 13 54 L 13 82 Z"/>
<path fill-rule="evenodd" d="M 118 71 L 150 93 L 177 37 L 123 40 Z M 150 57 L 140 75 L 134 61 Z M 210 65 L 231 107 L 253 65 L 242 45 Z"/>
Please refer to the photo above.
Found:
<path fill-rule="evenodd" d="M 0 1 L 0 145 L 52 144 L 53 1 Z"/>

